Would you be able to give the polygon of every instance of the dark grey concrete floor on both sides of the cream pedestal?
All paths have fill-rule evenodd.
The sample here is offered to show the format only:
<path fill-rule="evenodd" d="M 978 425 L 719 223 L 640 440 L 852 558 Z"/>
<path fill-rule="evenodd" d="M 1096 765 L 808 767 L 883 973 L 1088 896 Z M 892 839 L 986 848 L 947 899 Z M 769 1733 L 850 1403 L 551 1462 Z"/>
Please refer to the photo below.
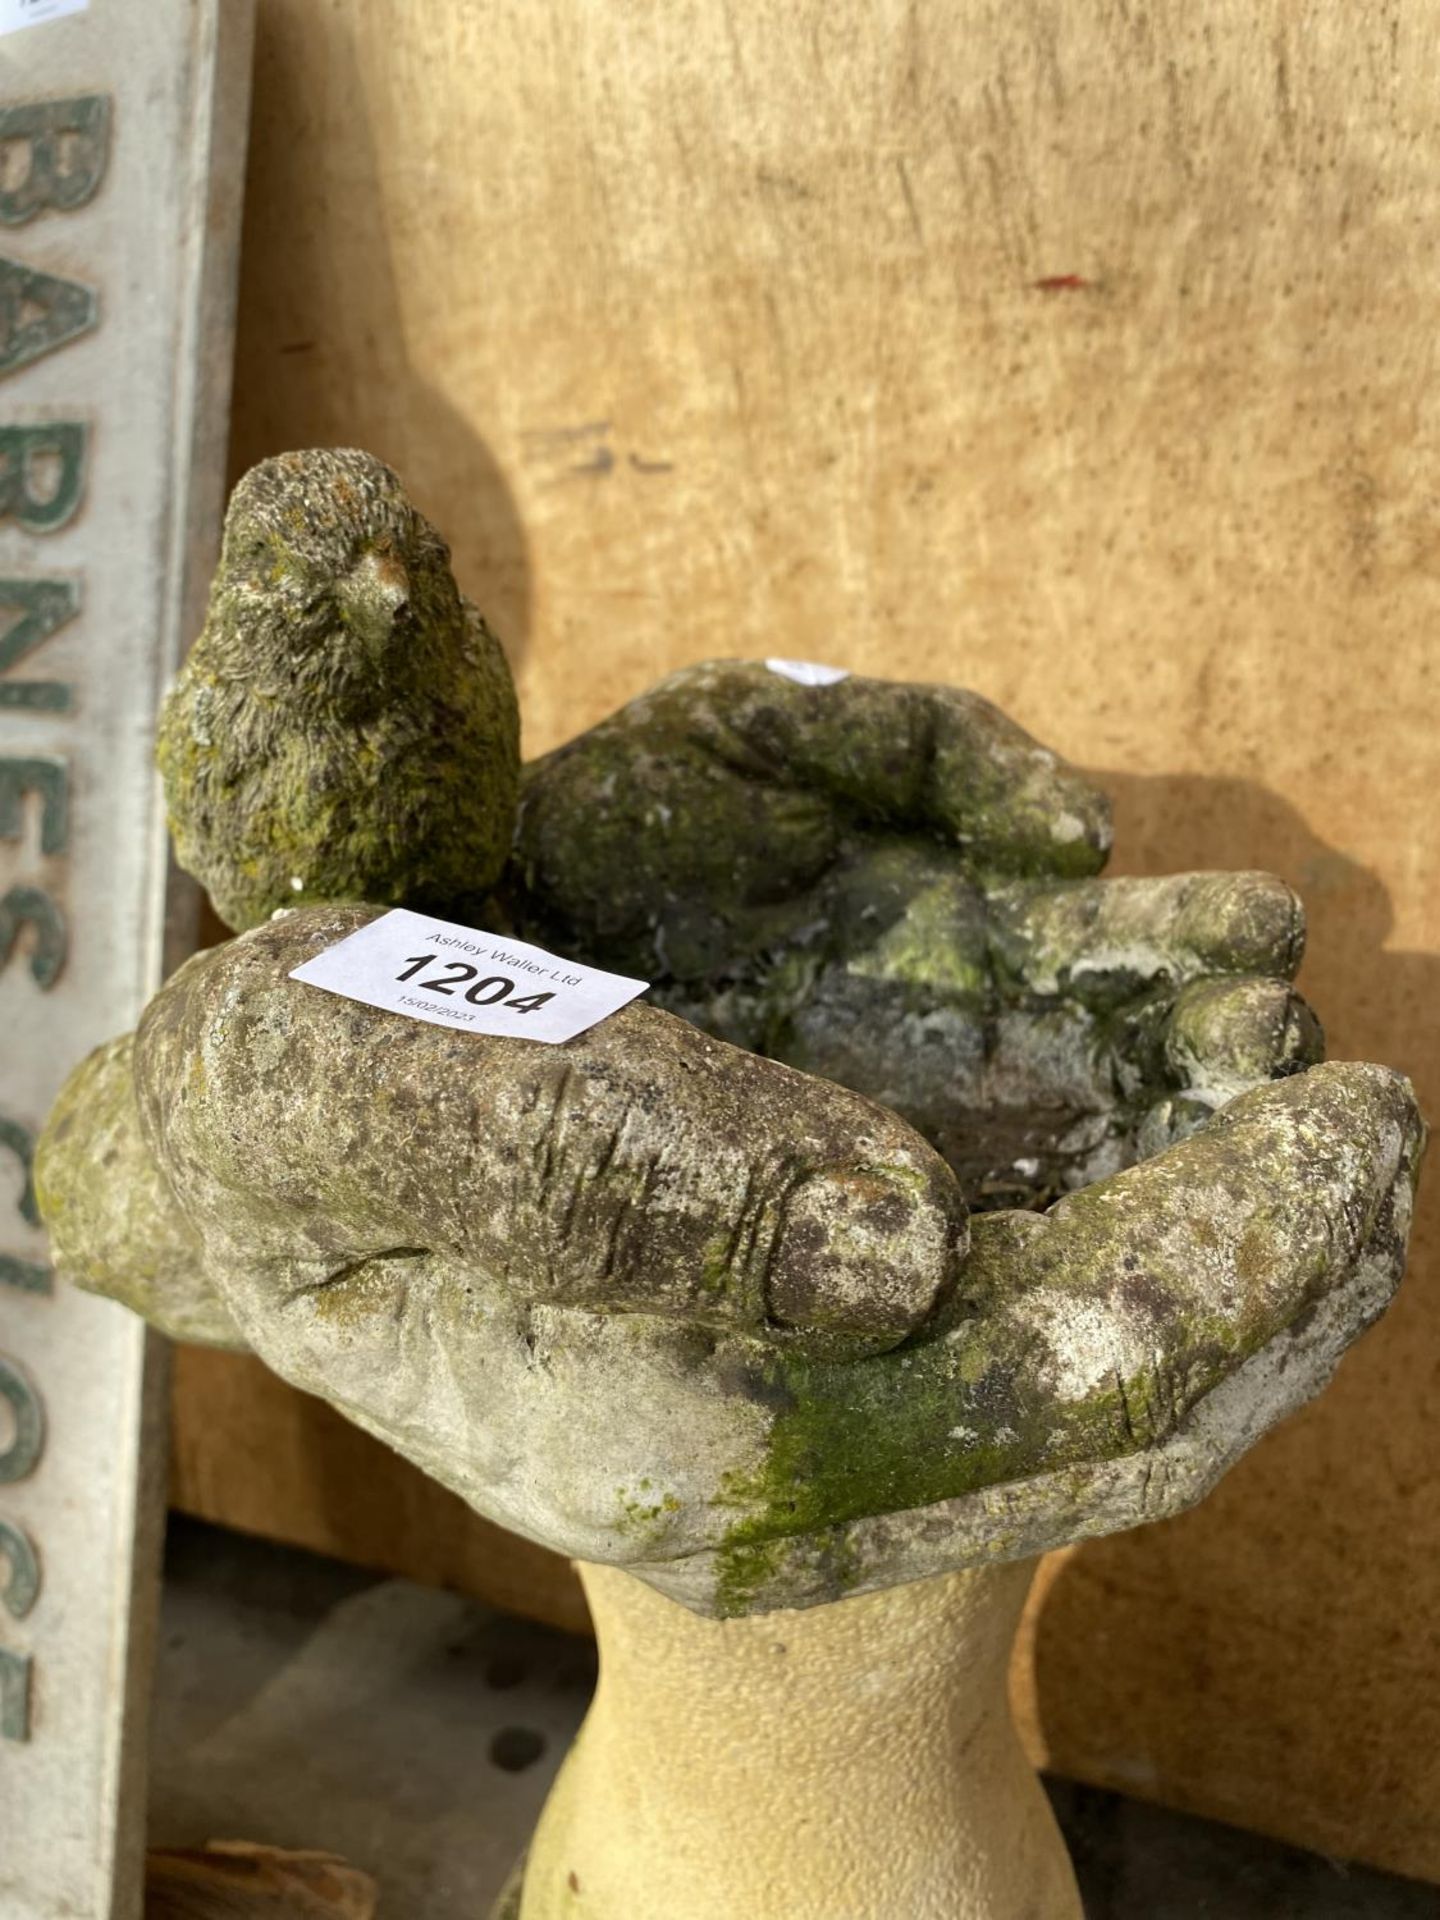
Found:
<path fill-rule="evenodd" d="M 152 1843 L 330 1847 L 378 1878 L 380 1920 L 486 1920 L 593 1680 L 588 1642 L 173 1519 Z M 1440 1920 L 1436 1887 L 1050 1793 L 1087 1920 Z"/>

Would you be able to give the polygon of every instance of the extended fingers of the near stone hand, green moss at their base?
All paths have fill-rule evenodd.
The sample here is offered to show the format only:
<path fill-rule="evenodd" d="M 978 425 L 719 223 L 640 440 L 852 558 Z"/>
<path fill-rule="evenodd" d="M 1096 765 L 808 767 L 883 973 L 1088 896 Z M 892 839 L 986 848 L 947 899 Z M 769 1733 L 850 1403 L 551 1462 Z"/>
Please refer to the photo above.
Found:
<path fill-rule="evenodd" d="M 749 1507 L 645 1576 L 808 1605 L 1190 1505 L 1388 1304 L 1423 1139 L 1402 1075 L 1319 1066 L 1048 1213 L 979 1215 L 952 1323 L 851 1367 L 780 1356 Z"/>

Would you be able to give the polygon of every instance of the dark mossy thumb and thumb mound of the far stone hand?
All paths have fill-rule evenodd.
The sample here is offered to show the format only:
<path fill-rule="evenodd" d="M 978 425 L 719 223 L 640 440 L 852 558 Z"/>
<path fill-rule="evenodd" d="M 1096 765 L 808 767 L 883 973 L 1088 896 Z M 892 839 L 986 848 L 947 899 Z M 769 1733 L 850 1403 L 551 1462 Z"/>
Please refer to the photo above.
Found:
<path fill-rule="evenodd" d="M 528 768 L 516 851 L 549 937 L 695 981 L 806 945 L 829 881 L 904 837 L 983 874 L 1085 876 L 1110 804 L 960 687 L 712 660 Z"/>

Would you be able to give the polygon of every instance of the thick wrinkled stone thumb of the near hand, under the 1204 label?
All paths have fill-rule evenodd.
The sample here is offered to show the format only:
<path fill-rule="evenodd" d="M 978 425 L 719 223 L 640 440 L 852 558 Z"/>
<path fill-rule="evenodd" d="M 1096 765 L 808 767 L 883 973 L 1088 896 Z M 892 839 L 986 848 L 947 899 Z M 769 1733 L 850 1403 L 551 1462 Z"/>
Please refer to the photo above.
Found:
<path fill-rule="evenodd" d="M 436 1256 L 482 1298 L 845 1352 L 948 1292 L 964 1204 L 895 1114 L 645 1004 L 541 1046 L 290 979 L 369 918 L 315 908 L 213 948 L 140 1027 L 156 1156 L 253 1286 L 273 1261 L 338 1308 L 374 1261 L 403 1290 Z"/>

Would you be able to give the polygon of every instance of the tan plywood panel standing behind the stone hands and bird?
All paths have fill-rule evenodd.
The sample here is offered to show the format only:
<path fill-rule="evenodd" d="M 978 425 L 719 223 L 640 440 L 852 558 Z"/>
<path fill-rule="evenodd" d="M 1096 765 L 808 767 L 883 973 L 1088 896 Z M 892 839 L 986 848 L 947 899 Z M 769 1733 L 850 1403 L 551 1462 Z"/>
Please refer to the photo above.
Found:
<path fill-rule="evenodd" d="M 263 0 L 236 470 L 397 465 L 530 751 L 708 655 L 983 689 L 1104 774 L 1121 872 L 1298 885 L 1332 1052 L 1440 1112 L 1438 42 L 1436 0 Z M 1440 1880 L 1436 1202 L 1319 1405 L 1048 1563 L 1058 1768 Z M 182 1503 L 572 1607 L 244 1363 L 177 1413 Z"/>

